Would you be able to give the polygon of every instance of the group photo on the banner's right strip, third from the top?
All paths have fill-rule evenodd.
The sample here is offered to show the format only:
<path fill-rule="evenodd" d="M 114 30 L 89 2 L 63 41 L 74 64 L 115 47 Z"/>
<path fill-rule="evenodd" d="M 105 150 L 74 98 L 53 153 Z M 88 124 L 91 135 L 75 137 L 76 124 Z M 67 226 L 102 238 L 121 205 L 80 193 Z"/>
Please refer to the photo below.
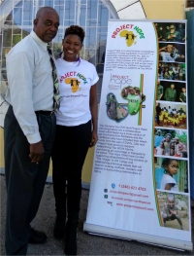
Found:
<path fill-rule="evenodd" d="M 176 80 L 185 81 L 186 77 L 185 63 L 177 62 L 159 62 L 158 79 L 159 80 Z"/>

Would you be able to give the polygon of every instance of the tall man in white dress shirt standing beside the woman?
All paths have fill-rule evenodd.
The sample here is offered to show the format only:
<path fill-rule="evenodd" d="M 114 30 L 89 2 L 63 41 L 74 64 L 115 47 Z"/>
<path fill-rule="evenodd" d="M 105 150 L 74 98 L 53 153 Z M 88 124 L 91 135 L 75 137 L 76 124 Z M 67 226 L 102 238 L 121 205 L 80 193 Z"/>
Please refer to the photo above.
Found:
<path fill-rule="evenodd" d="M 10 103 L 4 127 L 7 255 L 26 255 L 28 242 L 47 240 L 30 223 L 43 195 L 55 133 L 52 67 L 47 47 L 58 26 L 56 11 L 41 8 L 33 31 L 16 44 L 6 59 Z"/>

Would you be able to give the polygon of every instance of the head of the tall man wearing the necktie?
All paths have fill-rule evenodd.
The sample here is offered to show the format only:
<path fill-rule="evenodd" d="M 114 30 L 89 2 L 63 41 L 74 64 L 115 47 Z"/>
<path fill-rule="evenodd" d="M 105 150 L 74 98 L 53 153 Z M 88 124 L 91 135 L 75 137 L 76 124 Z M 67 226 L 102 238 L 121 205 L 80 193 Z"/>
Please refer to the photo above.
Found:
<path fill-rule="evenodd" d="M 55 37 L 58 26 L 59 17 L 52 10 L 45 10 L 41 17 L 34 19 L 34 32 L 45 43 L 49 43 Z"/>

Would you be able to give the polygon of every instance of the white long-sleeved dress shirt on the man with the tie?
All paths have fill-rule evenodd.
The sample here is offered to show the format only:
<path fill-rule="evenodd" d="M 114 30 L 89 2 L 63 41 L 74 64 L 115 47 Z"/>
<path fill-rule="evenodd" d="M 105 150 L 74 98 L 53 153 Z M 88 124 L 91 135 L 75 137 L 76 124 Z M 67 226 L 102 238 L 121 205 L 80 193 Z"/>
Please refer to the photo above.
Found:
<path fill-rule="evenodd" d="M 41 141 L 37 110 L 53 109 L 52 68 L 43 42 L 34 31 L 6 56 L 8 91 L 16 120 L 30 144 Z"/>

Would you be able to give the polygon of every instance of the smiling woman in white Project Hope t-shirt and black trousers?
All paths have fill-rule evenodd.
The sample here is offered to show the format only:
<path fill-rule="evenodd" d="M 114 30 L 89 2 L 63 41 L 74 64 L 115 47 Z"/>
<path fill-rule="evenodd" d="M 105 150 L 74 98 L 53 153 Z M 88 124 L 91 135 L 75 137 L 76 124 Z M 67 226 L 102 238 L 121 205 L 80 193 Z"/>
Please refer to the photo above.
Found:
<path fill-rule="evenodd" d="M 79 56 L 84 36 L 80 26 L 68 27 L 62 41 L 63 53 L 56 60 L 61 100 L 51 156 L 56 210 L 53 235 L 55 238 L 65 235 L 67 255 L 77 255 L 81 169 L 88 147 L 98 140 L 96 83 L 99 77 L 94 65 Z"/>

